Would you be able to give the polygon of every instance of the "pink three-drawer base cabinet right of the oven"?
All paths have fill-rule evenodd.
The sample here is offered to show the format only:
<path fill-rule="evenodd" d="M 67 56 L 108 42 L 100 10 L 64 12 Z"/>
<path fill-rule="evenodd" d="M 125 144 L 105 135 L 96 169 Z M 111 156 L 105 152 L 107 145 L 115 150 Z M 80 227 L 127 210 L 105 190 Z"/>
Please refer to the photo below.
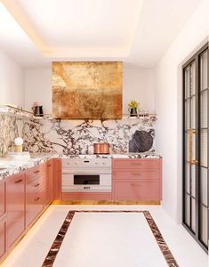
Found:
<path fill-rule="evenodd" d="M 162 159 L 113 159 L 114 200 L 162 199 Z"/>

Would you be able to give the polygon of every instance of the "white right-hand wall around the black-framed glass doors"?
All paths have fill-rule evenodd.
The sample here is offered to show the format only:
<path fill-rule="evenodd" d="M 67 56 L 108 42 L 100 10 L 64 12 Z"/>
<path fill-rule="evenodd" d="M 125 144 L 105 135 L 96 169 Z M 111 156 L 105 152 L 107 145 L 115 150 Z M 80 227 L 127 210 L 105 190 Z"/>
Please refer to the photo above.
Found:
<path fill-rule="evenodd" d="M 157 150 L 163 156 L 163 205 L 181 222 L 181 66 L 209 34 L 205 0 L 190 17 L 156 68 Z"/>

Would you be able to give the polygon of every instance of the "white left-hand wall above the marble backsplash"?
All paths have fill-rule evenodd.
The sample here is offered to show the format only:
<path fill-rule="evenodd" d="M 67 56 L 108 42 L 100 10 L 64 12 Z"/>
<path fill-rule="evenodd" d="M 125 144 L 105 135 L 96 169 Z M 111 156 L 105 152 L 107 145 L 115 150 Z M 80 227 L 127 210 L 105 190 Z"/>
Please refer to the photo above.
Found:
<path fill-rule="evenodd" d="M 23 69 L 0 51 L 0 104 L 24 107 Z"/>

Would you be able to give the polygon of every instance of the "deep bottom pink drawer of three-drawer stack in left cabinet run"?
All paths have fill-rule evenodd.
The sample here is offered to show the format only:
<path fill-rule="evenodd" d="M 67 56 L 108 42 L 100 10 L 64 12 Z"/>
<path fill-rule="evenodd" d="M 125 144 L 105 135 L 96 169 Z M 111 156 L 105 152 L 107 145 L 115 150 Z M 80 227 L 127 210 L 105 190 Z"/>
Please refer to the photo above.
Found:
<path fill-rule="evenodd" d="M 36 219 L 43 210 L 43 190 L 33 190 L 26 195 L 26 226 Z"/>

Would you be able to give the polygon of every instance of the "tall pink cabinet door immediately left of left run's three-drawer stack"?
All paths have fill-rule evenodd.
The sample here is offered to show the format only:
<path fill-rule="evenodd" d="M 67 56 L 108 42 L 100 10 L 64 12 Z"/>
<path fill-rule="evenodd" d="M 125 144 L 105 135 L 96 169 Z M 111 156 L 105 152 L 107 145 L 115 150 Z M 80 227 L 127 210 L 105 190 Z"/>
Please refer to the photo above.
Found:
<path fill-rule="evenodd" d="M 25 174 L 7 180 L 7 241 L 8 247 L 25 230 Z"/>

